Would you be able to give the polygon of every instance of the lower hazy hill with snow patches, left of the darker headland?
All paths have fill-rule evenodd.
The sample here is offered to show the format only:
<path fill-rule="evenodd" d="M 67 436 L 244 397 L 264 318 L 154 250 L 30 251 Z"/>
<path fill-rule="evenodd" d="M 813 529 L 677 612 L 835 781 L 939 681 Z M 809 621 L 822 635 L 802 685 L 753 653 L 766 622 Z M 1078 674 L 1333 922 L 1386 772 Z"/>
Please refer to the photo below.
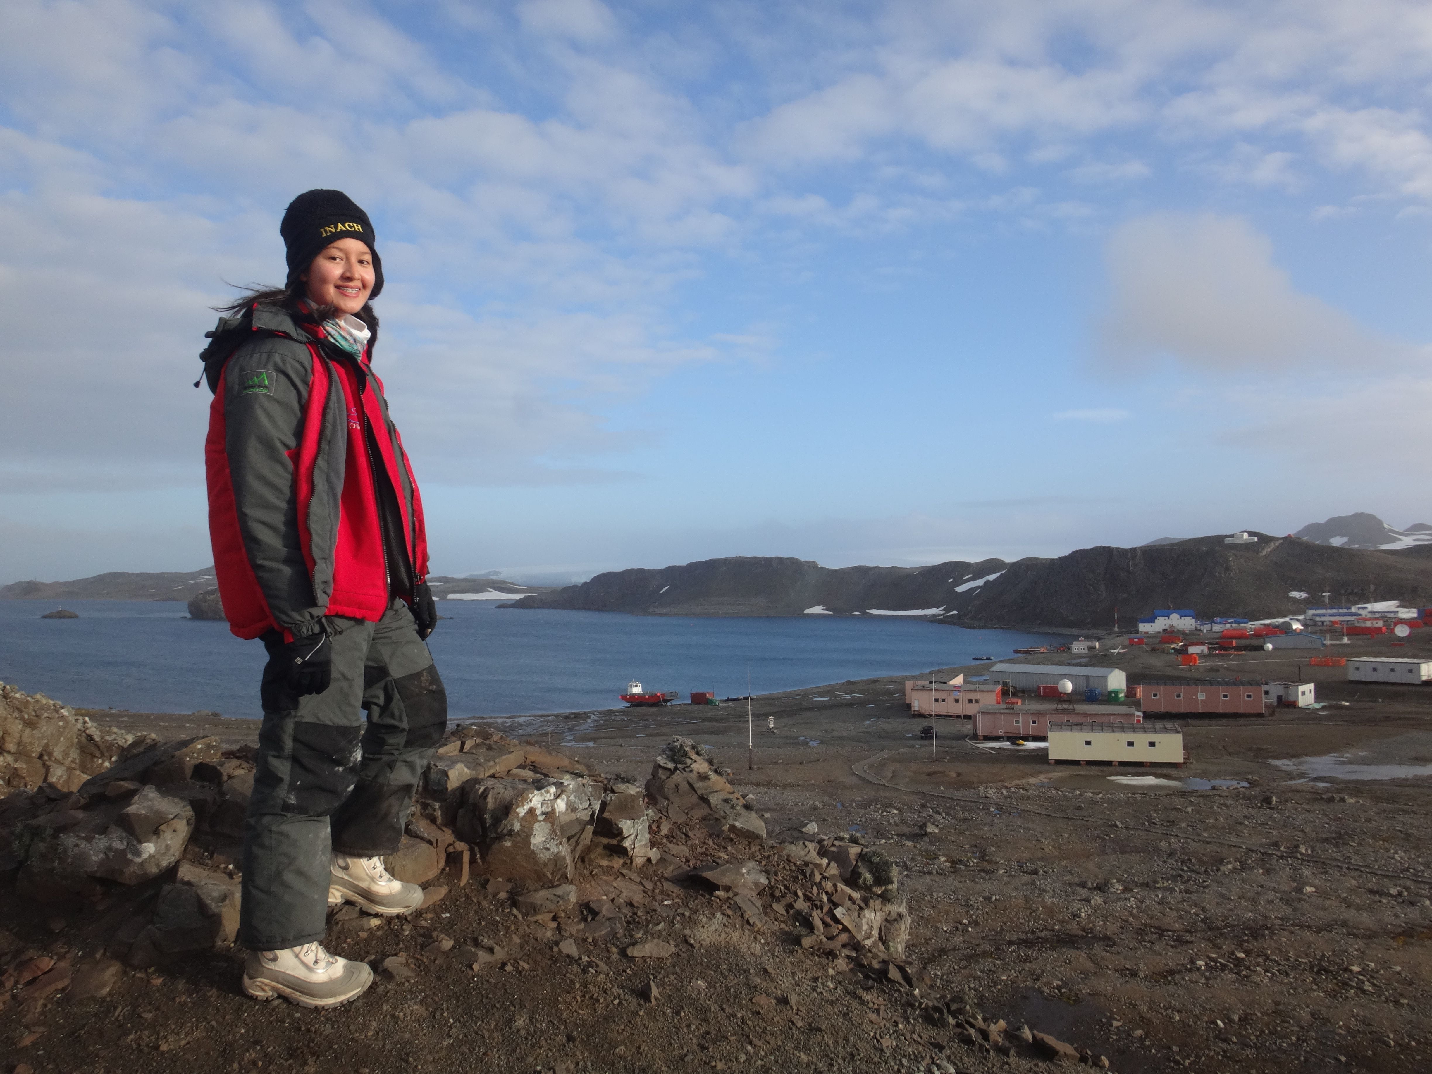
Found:
<path fill-rule="evenodd" d="M 779 556 L 733 556 L 660 570 L 619 570 L 503 607 L 630 611 L 646 616 L 799 616 L 929 610 L 979 590 L 1004 560 L 934 567 L 822 567 Z M 961 593 L 961 590 L 964 590 Z"/>

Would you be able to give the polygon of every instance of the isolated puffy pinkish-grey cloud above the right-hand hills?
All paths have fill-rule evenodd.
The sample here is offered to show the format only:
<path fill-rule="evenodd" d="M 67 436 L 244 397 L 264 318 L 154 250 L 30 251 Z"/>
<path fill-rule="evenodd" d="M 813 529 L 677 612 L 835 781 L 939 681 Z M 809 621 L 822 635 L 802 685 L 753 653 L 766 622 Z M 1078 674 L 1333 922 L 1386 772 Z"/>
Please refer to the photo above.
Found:
<path fill-rule="evenodd" d="M 1393 348 L 1326 302 L 1300 294 L 1273 245 L 1239 218 L 1156 213 L 1120 226 L 1106 248 L 1103 355 L 1269 368 L 1368 359 Z"/>

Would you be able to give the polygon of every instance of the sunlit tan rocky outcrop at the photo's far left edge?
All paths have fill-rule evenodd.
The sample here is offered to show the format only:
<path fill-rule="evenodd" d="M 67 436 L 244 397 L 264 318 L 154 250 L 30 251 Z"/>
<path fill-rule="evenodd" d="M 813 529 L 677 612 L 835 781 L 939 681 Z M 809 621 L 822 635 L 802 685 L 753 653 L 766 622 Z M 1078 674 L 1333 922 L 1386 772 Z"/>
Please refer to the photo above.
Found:
<path fill-rule="evenodd" d="M 53 783 L 77 790 L 87 776 L 113 765 L 133 742 L 100 727 L 43 693 L 0 683 L 0 795 Z"/>

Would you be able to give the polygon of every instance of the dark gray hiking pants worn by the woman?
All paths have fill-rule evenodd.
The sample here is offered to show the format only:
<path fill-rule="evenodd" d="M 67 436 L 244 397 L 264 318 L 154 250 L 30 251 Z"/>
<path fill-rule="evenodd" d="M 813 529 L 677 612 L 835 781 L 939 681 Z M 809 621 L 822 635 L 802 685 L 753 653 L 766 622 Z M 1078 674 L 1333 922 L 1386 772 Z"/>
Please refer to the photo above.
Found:
<path fill-rule="evenodd" d="M 239 942 L 322 939 L 331 853 L 394 853 L 447 729 L 447 690 L 401 600 L 377 623 L 332 616 L 332 683 L 295 697 L 265 636 L 263 727 L 243 825 Z M 359 709 L 368 712 L 367 723 Z"/>

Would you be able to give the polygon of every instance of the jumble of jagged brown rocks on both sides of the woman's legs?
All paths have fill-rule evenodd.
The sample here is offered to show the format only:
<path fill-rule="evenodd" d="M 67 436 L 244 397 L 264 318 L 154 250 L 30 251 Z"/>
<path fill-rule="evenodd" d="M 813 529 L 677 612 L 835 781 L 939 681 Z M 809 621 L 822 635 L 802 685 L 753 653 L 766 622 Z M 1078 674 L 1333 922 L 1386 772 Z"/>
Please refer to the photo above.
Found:
<path fill-rule="evenodd" d="M 223 952 L 236 939 L 239 835 L 252 788 L 251 748 L 223 750 L 211 737 L 150 745 L 74 790 L 46 785 L 0 799 L 0 845 L 14 846 L 0 871 L 67 916 L 102 922 L 95 929 L 116 967 Z M 909 915 L 889 859 L 859 842 L 780 846 L 763 833 L 753 799 L 687 739 L 663 748 L 643 789 L 536 743 L 461 726 L 424 773 L 402 846 L 385 863 L 414 884 L 444 869 L 444 885 L 484 878 L 488 896 L 510 899 L 524 921 L 551 929 L 556 951 L 599 971 L 609 945 L 650 965 L 674 958 L 680 938 L 653 931 L 669 925 L 677 898 L 709 901 L 758 937 L 796 938 L 836 971 L 922 984 L 904 961 Z M 430 886 L 424 906 L 447 891 Z M 367 931 L 369 921 L 342 906 L 331 927 Z M 705 942 L 699 932 L 684 939 Z M 451 938 L 437 938 L 420 964 L 453 958 L 474 972 L 511 964 L 501 948 Z M 44 978 L 63 977 L 53 992 L 73 987 L 63 969 Z M 394 979 L 415 972 L 397 955 L 382 971 Z M 654 997 L 653 985 L 647 1001 Z"/>

